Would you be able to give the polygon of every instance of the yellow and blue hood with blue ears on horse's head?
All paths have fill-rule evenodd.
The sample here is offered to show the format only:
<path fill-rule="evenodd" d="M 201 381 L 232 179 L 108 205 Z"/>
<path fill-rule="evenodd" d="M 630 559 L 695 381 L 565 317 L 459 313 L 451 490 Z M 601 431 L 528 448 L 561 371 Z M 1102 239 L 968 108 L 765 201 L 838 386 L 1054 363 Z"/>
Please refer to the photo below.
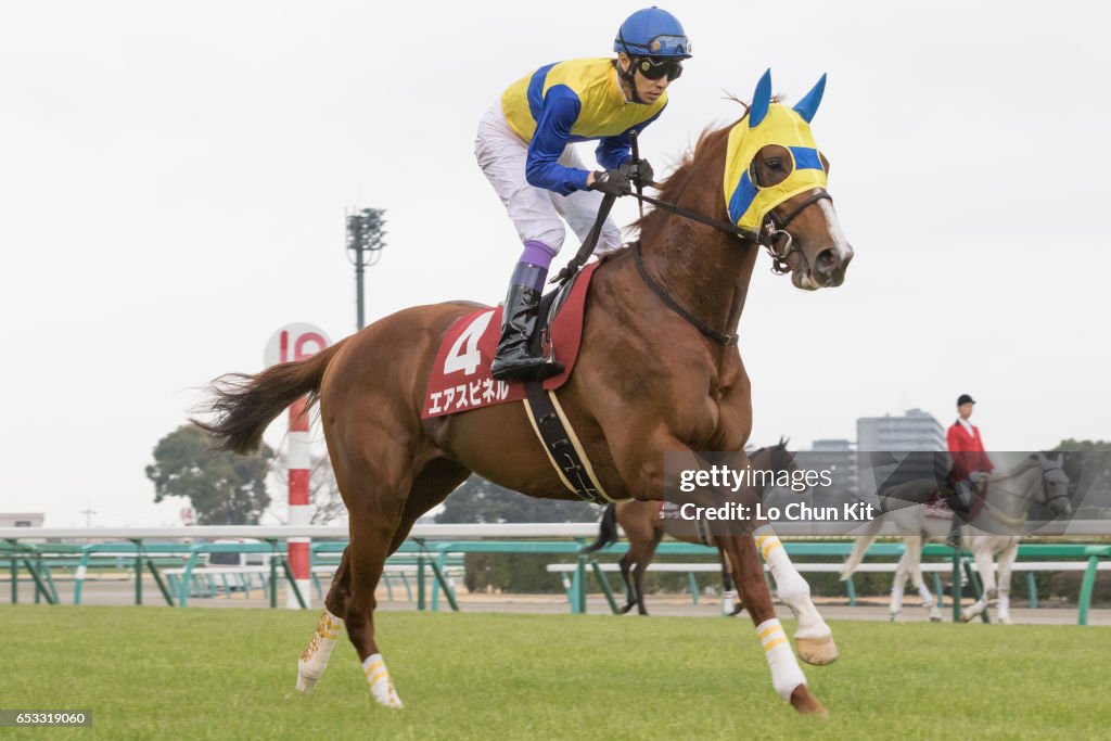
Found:
<path fill-rule="evenodd" d="M 825 76 L 794 108 L 771 102 L 771 70 L 757 83 L 749 114 L 729 132 L 725 154 L 725 208 L 741 229 L 759 232 L 764 218 L 783 201 L 814 188 L 825 189 L 825 170 L 810 121 L 825 91 Z M 791 153 L 791 173 L 778 186 L 760 188 L 750 169 L 761 148 L 779 144 Z"/>

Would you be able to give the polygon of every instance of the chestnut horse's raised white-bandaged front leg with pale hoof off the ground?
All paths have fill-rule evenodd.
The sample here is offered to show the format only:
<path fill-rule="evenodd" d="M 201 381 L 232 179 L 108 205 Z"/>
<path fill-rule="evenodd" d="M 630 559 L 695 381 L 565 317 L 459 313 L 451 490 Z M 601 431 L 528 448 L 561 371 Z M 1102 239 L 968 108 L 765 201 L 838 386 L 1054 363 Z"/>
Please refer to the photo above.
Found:
<path fill-rule="evenodd" d="M 779 599 L 791 608 L 791 612 L 799 621 L 799 628 L 794 631 L 794 644 L 799 649 L 799 658 L 808 664 L 833 663 L 838 658 L 833 631 L 825 624 L 810 600 L 810 584 L 791 563 L 783 543 L 770 525 L 757 528 L 752 535 L 760 554 L 768 563 L 772 579 L 775 580 Z"/>

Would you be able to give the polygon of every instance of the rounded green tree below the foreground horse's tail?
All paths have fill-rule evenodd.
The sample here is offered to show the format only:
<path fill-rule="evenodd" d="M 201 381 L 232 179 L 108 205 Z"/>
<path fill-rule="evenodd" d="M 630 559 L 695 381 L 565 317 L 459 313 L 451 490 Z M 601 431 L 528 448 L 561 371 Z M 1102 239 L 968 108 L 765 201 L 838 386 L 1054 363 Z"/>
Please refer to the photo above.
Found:
<path fill-rule="evenodd" d="M 251 455 L 218 451 L 207 432 L 182 424 L 158 441 L 147 478 L 156 502 L 188 498 L 199 524 L 258 524 L 270 505 L 266 478 L 273 458 L 264 443 Z"/>

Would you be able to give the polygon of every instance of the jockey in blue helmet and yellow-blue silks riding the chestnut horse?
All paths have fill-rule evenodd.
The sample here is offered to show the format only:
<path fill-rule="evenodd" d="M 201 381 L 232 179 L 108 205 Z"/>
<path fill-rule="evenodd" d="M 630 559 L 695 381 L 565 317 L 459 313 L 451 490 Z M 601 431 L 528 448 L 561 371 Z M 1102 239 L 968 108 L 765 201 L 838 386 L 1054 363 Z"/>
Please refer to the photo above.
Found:
<path fill-rule="evenodd" d="M 652 168 L 630 162 L 629 132 L 641 131 L 668 104 L 668 86 L 683 71 L 690 42 L 674 16 L 647 8 L 630 16 L 613 40 L 617 59 L 575 59 L 547 64 L 511 84 L 479 123 L 474 156 L 524 251 L 509 282 L 501 340 L 491 368 L 496 379 L 543 379 L 562 363 L 529 352 L 540 292 L 552 258 L 563 244 L 560 217 L 584 240 L 603 193 L 627 196 L 632 183 L 652 182 Z M 602 169 L 585 168 L 573 148 L 599 140 Z M 621 247 L 607 219 L 595 254 Z"/>

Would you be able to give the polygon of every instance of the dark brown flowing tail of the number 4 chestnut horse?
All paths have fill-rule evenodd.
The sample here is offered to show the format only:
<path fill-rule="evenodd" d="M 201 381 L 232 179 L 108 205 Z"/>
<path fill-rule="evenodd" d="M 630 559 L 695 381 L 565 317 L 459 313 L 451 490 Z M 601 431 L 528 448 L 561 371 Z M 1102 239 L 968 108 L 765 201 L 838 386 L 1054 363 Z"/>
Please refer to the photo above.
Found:
<path fill-rule="evenodd" d="M 309 394 L 306 413 L 317 403 L 324 369 L 343 342 L 340 340 L 311 358 L 271 366 L 253 375 L 221 375 L 210 387 L 216 399 L 208 411 L 216 413 L 216 420 L 190 421 L 211 434 L 219 450 L 237 453 L 257 450 L 267 425 L 283 409 L 306 394 Z"/>

